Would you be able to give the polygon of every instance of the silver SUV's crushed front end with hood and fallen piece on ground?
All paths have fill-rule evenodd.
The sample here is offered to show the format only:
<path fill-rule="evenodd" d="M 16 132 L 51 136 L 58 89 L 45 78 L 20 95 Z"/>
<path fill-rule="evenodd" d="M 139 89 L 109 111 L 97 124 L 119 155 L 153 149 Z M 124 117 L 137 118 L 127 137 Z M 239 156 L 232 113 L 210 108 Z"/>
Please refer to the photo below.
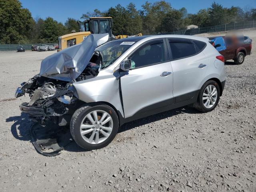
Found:
<path fill-rule="evenodd" d="M 40 74 L 16 90 L 16 98 L 30 96 L 30 102 L 20 104 L 20 110 L 36 122 L 30 128 L 30 136 L 41 154 L 58 155 L 72 140 L 66 125 L 84 104 L 73 83 L 98 75 L 102 55 L 95 49 L 107 40 L 108 34 L 91 34 L 81 44 L 48 56 L 41 63 Z"/>

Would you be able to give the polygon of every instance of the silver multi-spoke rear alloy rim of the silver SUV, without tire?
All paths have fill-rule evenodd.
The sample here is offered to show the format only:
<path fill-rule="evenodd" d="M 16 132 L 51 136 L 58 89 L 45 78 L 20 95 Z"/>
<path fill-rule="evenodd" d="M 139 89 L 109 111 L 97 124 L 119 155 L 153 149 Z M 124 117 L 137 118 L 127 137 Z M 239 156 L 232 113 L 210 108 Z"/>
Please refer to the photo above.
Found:
<path fill-rule="evenodd" d="M 203 104 L 206 108 L 211 108 L 216 103 L 218 97 L 217 89 L 214 85 L 208 85 L 203 94 Z"/>

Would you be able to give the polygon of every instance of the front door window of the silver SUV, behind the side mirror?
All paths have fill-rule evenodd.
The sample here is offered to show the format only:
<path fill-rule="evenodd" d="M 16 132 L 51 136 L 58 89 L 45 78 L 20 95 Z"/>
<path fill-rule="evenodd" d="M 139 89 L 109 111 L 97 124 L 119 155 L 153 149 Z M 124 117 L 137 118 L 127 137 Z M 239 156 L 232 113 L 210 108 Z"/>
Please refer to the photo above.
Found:
<path fill-rule="evenodd" d="M 132 68 L 143 67 L 165 61 L 164 41 L 156 40 L 138 48 L 129 59 Z"/>

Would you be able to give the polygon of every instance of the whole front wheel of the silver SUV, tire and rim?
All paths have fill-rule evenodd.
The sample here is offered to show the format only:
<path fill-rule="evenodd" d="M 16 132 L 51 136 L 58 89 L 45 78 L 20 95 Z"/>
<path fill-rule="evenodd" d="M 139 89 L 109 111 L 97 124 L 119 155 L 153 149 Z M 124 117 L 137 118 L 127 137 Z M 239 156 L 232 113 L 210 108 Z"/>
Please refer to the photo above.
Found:
<path fill-rule="evenodd" d="M 84 105 L 74 112 L 70 132 L 75 142 L 86 150 L 107 146 L 116 136 L 119 121 L 108 105 Z"/>

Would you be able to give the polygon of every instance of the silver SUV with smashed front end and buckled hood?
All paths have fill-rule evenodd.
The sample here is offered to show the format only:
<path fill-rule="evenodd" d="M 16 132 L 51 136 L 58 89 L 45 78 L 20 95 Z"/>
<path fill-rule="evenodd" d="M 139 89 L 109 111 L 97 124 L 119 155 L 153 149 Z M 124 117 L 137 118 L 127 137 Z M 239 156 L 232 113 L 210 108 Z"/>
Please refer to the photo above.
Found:
<path fill-rule="evenodd" d="M 45 58 L 40 74 L 16 91 L 31 98 L 21 111 L 42 125 L 70 124 L 76 143 L 92 150 L 108 145 L 126 122 L 188 104 L 209 112 L 218 104 L 224 57 L 207 38 L 107 41 L 108 34 L 92 34 Z"/>

